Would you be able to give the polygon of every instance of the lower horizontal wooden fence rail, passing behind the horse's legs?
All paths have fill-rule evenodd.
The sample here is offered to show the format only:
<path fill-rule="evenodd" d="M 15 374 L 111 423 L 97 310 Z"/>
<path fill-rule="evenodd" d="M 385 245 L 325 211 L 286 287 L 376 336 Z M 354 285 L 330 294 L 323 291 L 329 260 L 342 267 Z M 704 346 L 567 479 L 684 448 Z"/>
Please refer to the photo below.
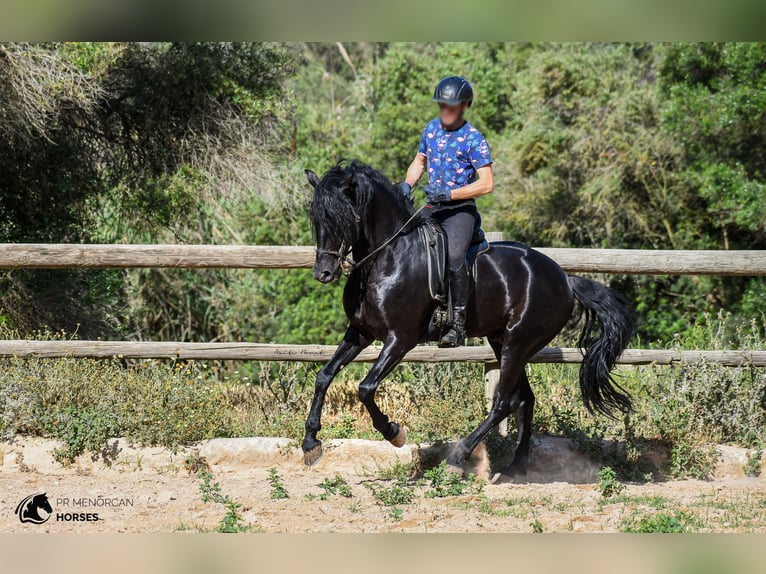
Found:
<path fill-rule="evenodd" d="M 92 357 L 126 359 L 197 359 L 197 360 L 255 360 L 255 361 L 326 361 L 334 345 L 277 345 L 268 343 L 173 343 L 146 341 L 25 341 L 0 340 L 0 357 Z M 362 351 L 357 361 L 374 361 L 379 346 Z M 579 349 L 550 347 L 540 351 L 533 363 L 579 363 Z M 420 345 L 407 353 L 405 361 L 431 362 L 494 362 L 492 350 L 483 345 L 440 349 Z M 707 361 L 721 365 L 766 366 L 766 351 L 679 351 L 663 349 L 628 349 L 620 358 L 627 365 L 651 363 L 696 363 Z"/>

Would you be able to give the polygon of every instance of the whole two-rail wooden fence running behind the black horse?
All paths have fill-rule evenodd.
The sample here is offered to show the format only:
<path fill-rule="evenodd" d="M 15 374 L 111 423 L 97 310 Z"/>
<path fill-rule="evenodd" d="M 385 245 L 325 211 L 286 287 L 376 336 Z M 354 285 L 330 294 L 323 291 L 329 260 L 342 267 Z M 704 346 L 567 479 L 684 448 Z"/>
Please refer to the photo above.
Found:
<path fill-rule="evenodd" d="M 499 239 L 488 233 L 488 238 Z M 766 275 L 766 251 L 670 251 L 640 249 L 555 249 L 539 251 L 570 273 L 654 275 Z M 314 261 L 314 247 L 273 245 L 124 245 L 124 244 L 0 244 L 0 268 L 246 268 L 305 269 Z M 138 341 L 0 341 L 0 356 L 115 357 L 175 359 L 236 359 L 324 361 L 331 345 L 273 345 L 260 343 L 175 343 Z M 358 361 L 374 361 L 379 348 L 371 347 Z M 548 348 L 533 362 L 576 363 L 578 349 Z M 475 361 L 492 363 L 487 346 L 439 349 L 418 346 L 406 361 Z M 629 349 L 621 363 L 717 362 L 722 365 L 766 366 L 766 351 L 678 351 Z"/>

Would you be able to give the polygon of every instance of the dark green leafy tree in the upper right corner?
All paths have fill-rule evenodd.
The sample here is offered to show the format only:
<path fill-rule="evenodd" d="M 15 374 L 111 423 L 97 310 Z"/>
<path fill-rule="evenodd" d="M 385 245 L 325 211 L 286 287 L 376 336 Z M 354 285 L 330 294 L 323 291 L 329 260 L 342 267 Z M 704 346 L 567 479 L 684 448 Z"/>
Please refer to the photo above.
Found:
<path fill-rule="evenodd" d="M 683 144 L 682 177 L 705 201 L 713 228 L 748 248 L 762 243 L 766 45 L 672 44 L 663 55 L 662 121 Z"/>

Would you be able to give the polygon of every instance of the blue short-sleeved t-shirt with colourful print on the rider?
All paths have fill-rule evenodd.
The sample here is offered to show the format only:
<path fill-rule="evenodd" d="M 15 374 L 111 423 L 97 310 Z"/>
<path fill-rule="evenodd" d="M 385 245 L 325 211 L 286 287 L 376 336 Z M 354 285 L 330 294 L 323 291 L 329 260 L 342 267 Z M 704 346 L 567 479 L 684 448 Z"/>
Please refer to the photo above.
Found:
<path fill-rule="evenodd" d="M 429 185 L 440 191 L 473 183 L 476 170 L 492 163 L 487 140 L 469 122 L 450 131 L 444 129 L 439 118 L 431 120 L 423 130 L 418 152 L 427 158 Z M 475 204 L 473 200 L 450 203 Z"/>

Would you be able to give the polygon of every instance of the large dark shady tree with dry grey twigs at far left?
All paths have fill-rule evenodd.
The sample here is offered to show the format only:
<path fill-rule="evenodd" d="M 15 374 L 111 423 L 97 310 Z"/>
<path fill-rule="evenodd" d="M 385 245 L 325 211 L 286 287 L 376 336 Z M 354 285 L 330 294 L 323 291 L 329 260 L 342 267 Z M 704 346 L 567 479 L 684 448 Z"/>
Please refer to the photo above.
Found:
<path fill-rule="evenodd" d="M 0 240 L 175 240 L 198 228 L 200 207 L 249 186 L 278 143 L 293 65 L 265 43 L 0 45 Z M 131 333 L 125 275 L 8 272 L 0 307 L 25 332 Z"/>

